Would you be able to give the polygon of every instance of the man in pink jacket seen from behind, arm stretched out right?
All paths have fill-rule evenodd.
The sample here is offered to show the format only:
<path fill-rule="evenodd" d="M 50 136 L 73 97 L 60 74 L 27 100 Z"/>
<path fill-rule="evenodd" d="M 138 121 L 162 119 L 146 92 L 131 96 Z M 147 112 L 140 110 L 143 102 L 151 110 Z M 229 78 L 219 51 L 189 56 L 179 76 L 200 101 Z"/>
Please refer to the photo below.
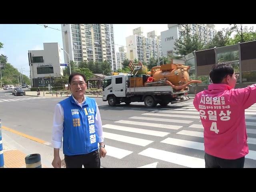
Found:
<path fill-rule="evenodd" d="M 238 75 L 221 63 L 210 71 L 213 84 L 196 94 L 194 106 L 204 126 L 206 168 L 243 168 L 248 154 L 244 110 L 256 103 L 256 84 L 234 89 Z"/>

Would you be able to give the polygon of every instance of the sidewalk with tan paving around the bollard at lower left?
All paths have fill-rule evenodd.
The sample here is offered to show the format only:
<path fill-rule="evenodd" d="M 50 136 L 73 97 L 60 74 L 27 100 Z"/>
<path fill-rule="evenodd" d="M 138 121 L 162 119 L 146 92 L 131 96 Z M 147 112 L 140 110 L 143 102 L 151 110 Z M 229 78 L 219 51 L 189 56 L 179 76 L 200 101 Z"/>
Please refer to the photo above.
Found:
<path fill-rule="evenodd" d="M 38 153 L 41 156 L 42 168 L 52 168 L 53 148 L 2 128 L 4 168 L 26 168 L 25 157 Z M 64 159 L 60 151 L 60 159 Z"/>

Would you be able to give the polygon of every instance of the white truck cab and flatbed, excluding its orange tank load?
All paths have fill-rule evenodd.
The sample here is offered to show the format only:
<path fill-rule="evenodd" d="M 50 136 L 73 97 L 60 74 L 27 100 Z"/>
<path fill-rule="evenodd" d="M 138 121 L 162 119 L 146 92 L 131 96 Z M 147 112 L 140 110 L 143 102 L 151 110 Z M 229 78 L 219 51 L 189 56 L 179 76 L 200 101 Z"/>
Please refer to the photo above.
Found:
<path fill-rule="evenodd" d="M 166 106 L 170 102 L 177 102 L 177 100 L 182 100 L 188 94 L 188 89 L 176 92 L 169 85 L 129 87 L 129 75 L 118 74 L 104 78 L 102 100 L 108 101 L 110 106 L 115 106 L 122 102 L 126 104 L 144 102 L 146 107 L 155 107 L 158 103 L 161 106 Z"/>

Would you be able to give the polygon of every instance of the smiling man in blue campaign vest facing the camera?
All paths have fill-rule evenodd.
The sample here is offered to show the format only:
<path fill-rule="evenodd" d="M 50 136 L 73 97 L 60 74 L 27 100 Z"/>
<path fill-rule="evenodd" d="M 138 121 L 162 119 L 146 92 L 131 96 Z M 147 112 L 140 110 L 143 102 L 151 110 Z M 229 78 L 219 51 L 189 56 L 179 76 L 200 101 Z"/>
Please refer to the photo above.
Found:
<path fill-rule="evenodd" d="M 100 111 L 95 100 L 85 97 L 87 88 L 84 74 L 69 76 L 72 95 L 55 107 L 52 145 L 52 166 L 61 168 L 60 148 L 66 168 L 100 168 L 100 158 L 106 156 Z M 99 143 L 99 146 L 98 146 Z"/>

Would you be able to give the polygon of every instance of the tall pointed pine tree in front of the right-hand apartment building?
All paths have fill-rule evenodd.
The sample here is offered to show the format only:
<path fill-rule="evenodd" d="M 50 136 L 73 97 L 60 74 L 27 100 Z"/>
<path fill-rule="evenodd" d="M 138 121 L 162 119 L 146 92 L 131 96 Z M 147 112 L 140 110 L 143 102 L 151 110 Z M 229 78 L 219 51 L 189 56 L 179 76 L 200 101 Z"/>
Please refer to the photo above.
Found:
<path fill-rule="evenodd" d="M 190 25 L 184 24 L 182 26 L 184 26 L 185 28 L 184 31 L 182 32 L 183 39 L 182 37 L 180 37 L 174 42 L 174 50 L 176 50 L 176 52 L 174 53 L 180 56 L 185 56 L 187 54 L 190 54 L 194 50 L 202 50 L 202 41 L 200 40 L 198 35 L 190 34 Z"/>

